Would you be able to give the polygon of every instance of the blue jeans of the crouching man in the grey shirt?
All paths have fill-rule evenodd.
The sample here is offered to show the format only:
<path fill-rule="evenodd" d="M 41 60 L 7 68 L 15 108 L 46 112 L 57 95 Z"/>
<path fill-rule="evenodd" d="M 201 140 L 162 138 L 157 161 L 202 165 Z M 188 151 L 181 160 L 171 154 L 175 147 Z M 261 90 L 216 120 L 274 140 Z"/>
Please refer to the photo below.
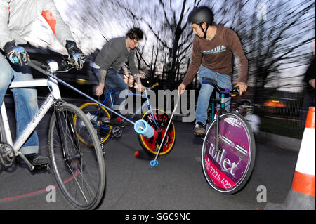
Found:
<path fill-rule="evenodd" d="M 96 76 L 99 78 L 100 77 L 100 69 L 94 69 Z M 105 78 L 105 88 L 104 88 L 104 95 L 107 95 L 109 93 L 110 88 L 112 91 L 115 92 L 114 95 L 114 110 L 119 110 L 119 105 L 125 100 L 125 98 L 119 98 L 119 94 L 121 91 L 128 90 L 129 86 L 125 83 L 123 77 L 117 71 L 113 70 L 110 68 L 107 70 L 107 77 Z M 107 100 L 109 102 L 109 100 Z"/>

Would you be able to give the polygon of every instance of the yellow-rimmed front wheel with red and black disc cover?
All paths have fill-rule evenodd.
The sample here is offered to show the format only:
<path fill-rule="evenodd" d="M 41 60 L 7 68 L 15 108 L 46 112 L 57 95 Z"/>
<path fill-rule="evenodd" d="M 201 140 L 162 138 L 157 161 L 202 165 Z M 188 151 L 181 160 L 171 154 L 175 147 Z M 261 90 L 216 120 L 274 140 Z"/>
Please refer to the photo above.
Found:
<path fill-rule="evenodd" d="M 152 116 L 154 116 L 154 118 Z M 164 133 L 166 132 L 166 127 L 169 124 L 170 117 L 163 110 L 152 109 L 152 113 L 150 110 L 148 110 L 147 112 L 145 112 L 142 119 L 147 121 L 147 123 L 154 128 L 154 136 L 152 136 L 152 138 L 145 138 L 142 135 L 138 135 L 140 145 L 142 145 L 143 149 L 150 155 L 156 155 L 157 151 L 159 150 L 159 145 L 162 142 L 162 138 L 164 137 Z M 154 120 L 156 121 L 157 125 L 154 123 Z M 161 130 L 160 132 L 157 126 Z M 164 155 L 171 152 L 175 140 L 176 129 L 174 128 L 174 124 L 171 121 L 168 133 L 166 134 L 166 138 L 164 139 L 164 145 L 162 146 L 159 155 Z"/>

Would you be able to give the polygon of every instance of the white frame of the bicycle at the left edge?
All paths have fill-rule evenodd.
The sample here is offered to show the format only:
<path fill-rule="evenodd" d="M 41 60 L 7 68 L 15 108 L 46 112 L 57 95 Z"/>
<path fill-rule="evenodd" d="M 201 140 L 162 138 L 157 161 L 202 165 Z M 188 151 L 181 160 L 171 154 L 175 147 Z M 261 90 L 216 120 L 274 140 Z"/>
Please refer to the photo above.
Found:
<path fill-rule="evenodd" d="M 25 159 L 25 157 L 20 152 L 21 147 L 24 145 L 27 138 L 29 138 L 29 136 L 32 134 L 34 129 L 37 127 L 37 125 L 39 124 L 39 121 L 43 119 L 46 112 L 48 112 L 49 108 L 53 105 L 54 101 L 60 100 L 61 96 L 60 96 L 60 91 L 58 87 L 58 81 L 56 79 L 53 79 L 52 77 L 48 77 L 48 79 L 34 79 L 31 81 L 13 81 L 11 83 L 11 86 L 9 86 L 9 88 L 26 88 L 26 87 L 38 87 L 38 86 L 48 86 L 51 93 L 46 97 L 46 100 L 39 108 L 39 111 L 37 112 L 37 114 L 34 115 L 34 118 L 32 119 L 32 121 L 29 122 L 29 124 L 27 125 L 27 128 L 22 132 L 22 135 L 17 140 L 15 140 L 14 145 L 13 145 L 13 140 L 11 137 L 11 130 L 10 130 L 9 122 L 8 122 L 8 115 L 6 113 L 5 103 L 3 102 L 1 105 L 1 117 L 4 124 L 6 142 L 9 145 L 13 146 L 15 156 L 20 156 L 23 159 Z M 28 163 L 28 166 L 31 170 L 34 169 L 32 164 Z"/>

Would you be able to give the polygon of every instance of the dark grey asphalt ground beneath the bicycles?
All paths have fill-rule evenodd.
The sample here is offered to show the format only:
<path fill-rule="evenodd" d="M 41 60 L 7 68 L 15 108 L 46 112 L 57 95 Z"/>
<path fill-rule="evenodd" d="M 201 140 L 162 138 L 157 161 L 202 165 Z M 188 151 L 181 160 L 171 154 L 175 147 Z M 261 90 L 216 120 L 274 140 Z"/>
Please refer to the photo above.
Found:
<path fill-rule="evenodd" d="M 10 108 L 8 108 L 10 110 Z M 13 120 L 13 112 L 9 112 Z M 47 154 L 48 121 L 37 128 L 41 154 Z M 249 182 L 237 194 L 225 196 L 211 190 L 202 173 L 199 157 L 202 139 L 193 136 L 193 124 L 176 122 L 176 145 L 159 166 L 149 166 L 150 157 L 141 149 L 133 128 L 124 129 L 119 139 L 105 145 L 106 193 L 99 210 L 258 210 L 262 186 L 267 201 L 282 203 L 291 188 L 297 152 L 269 143 L 256 143 L 256 164 Z M 14 125 L 13 125 L 14 136 Z M 136 150 L 140 157 L 134 157 Z M 0 209 L 73 209 L 58 187 L 56 202 L 47 202 L 46 187 L 56 185 L 53 172 L 31 174 L 20 165 L 0 168 Z M 259 188 L 258 188 L 259 187 Z M 260 198 L 260 197 L 259 197 Z"/>

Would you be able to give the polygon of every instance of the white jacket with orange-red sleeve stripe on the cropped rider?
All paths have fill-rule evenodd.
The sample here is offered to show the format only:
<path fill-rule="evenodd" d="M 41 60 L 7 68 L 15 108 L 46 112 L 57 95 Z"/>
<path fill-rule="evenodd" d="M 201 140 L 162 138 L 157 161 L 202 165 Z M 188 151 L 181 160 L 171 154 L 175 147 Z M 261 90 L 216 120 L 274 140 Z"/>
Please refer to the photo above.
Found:
<path fill-rule="evenodd" d="M 13 40 L 26 44 L 24 37 L 32 31 L 32 22 L 40 16 L 48 22 L 62 46 L 66 40 L 74 41 L 53 0 L 0 0 L 0 48 Z"/>

